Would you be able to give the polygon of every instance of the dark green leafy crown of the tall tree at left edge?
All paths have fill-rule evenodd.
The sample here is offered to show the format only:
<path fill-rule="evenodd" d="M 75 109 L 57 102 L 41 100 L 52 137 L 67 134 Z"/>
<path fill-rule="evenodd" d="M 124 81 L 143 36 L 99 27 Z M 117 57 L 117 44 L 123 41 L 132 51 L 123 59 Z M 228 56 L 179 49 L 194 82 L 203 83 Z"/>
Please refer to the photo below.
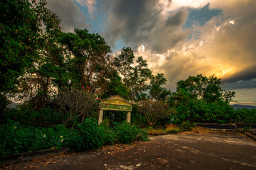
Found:
<path fill-rule="evenodd" d="M 0 2 L 1 92 L 14 90 L 18 77 L 38 59 L 44 41 L 41 33 L 58 27 L 58 18 L 45 6 L 45 0 Z"/>

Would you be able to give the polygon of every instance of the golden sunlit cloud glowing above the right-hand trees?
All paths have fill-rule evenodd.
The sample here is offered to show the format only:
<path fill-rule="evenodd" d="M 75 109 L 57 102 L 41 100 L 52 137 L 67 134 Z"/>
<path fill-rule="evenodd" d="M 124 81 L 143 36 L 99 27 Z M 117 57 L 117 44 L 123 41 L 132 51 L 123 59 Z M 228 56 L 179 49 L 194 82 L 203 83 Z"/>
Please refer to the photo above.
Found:
<path fill-rule="evenodd" d="M 256 6 L 247 2 L 240 2 L 240 6 L 246 8 L 229 9 L 203 26 L 193 25 L 190 40 L 170 47 L 161 55 L 149 51 L 139 55 L 154 63 L 151 64 L 154 71 L 164 72 L 171 89 L 176 81 L 196 74 L 215 74 L 228 84 L 247 80 L 240 88 L 252 87 L 255 81 L 250 80 L 256 78 Z"/>

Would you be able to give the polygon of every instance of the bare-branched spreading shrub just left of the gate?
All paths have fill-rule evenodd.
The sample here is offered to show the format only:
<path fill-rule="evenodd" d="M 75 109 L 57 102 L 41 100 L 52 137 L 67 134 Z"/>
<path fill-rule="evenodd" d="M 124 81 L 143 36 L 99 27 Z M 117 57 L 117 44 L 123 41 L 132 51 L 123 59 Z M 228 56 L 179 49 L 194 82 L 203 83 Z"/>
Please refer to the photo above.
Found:
<path fill-rule="evenodd" d="M 53 103 L 57 106 L 56 111 L 65 118 L 64 124 L 76 118 L 83 121 L 86 115 L 96 111 L 100 106 L 97 93 L 91 93 L 85 87 L 63 87 L 53 99 Z"/>

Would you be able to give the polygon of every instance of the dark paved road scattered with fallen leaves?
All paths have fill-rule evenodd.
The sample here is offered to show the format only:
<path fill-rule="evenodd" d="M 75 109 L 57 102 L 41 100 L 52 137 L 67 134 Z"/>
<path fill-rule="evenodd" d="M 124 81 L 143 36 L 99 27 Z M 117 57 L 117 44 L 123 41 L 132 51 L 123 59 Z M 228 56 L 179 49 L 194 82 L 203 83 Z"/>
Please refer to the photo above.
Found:
<path fill-rule="evenodd" d="M 26 169 L 256 169 L 256 142 L 236 133 L 178 134 L 97 152 L 23 162 Z"/>

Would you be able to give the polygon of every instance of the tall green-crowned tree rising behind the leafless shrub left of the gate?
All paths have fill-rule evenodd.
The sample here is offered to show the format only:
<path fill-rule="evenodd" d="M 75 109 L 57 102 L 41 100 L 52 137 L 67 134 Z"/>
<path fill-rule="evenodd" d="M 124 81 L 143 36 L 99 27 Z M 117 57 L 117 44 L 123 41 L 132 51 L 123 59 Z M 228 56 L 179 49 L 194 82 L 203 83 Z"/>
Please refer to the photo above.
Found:
<path fill-rule="evenodd" d="M 112 73 L 110 46 L 99 34 L 91 34 L 87 29 L 75 29 L 75 33 L 63 33 L 59 42 L 74 57 L 70 58 L 73 67 L 69 70 L 73 79 L 71 84 L 81 84 L 90 91 L 104 92 L 103 83 Z"/>

